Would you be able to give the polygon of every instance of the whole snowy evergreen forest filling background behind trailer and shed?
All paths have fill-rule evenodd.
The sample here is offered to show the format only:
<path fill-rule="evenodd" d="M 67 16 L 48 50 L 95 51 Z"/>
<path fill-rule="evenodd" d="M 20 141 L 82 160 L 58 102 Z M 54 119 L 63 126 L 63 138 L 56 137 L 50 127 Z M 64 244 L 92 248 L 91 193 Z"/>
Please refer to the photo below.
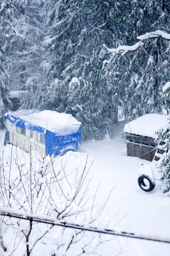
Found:
<path fill-rule="evenodd" d="M 170 81 L 168 0 L 8 0 L 0 3 L 0 115 L 12 109 L 78 111 L 83 139 L 113 135 L 118 120 L 169 113 L 162 87 Z"/>

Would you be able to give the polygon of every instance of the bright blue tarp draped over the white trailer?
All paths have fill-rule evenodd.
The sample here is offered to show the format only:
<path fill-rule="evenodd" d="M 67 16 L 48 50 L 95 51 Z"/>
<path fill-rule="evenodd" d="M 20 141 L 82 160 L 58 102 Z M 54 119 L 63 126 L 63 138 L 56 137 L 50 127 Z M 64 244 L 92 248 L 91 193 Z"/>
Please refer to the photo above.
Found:
<path fill-rule="evenodd" d="M 77 150 L 81 145 L 81 125 L 79 125 L 78 131 L 71 134 L 60 135 L 55 132 L 48 131 L 43 127 L 34 125 L 27 120 L 20 118 L 19 116 L 30 115 L 32 113 L 38 113 L 35 109 L 29 111 L 20 111 L 6 113 L 3 118 L 10 120 L 17 127 L 30 129 L 45 134 L 45 151 L 46 155 L 59 155 L 69 150 Z"/>

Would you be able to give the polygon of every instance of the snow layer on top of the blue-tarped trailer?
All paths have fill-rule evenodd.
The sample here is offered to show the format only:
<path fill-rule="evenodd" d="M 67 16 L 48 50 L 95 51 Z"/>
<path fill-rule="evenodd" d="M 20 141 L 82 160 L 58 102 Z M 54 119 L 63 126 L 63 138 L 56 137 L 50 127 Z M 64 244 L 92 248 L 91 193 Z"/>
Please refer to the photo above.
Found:
<path fill-rule="evenodd" d="M 31 124 L 38 127 L 43 127 L 45 130 L 54 132 L 59 135 L 71 134 L 77 132 L 81 123 L 72 115 L 66 113 L 58 113 L 57 111 L 37 111 L 34 109 L 26 111 L 17 111 L 6 113 L 8 119 L 11 121 L 15 116 L 24 120 L 25 128 L 30 129 Z M 13 121 L 13 123 L 15 123 Z M 17 123 L 16 123 L 17 124 Z"/>

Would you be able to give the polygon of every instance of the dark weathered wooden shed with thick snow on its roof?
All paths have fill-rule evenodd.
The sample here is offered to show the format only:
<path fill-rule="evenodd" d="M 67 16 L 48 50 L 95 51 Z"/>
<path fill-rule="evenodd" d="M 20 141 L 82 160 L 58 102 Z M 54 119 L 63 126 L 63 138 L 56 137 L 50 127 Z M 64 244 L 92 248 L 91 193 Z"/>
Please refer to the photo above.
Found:
<path fill-rule="evenodd" d="M 167 115 L 147 114 L 136 118 L 124 127 L 127 156 L 152 161 L 157 150 L 156 132 L 167 122 Z"/>

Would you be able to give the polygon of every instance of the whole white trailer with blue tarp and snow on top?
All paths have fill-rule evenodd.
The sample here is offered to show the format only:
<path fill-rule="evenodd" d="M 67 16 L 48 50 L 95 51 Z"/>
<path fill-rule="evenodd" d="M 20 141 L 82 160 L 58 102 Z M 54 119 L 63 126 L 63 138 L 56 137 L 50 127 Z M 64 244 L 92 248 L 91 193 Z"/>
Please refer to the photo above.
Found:
<path fill-rule="evenodd" d="M 9 112 L 6 120 L 6 142 L 26 152 L 57 156 L 77 150 L 81 144 L 81 123 L 72 115 L 35 109 Z"/>

